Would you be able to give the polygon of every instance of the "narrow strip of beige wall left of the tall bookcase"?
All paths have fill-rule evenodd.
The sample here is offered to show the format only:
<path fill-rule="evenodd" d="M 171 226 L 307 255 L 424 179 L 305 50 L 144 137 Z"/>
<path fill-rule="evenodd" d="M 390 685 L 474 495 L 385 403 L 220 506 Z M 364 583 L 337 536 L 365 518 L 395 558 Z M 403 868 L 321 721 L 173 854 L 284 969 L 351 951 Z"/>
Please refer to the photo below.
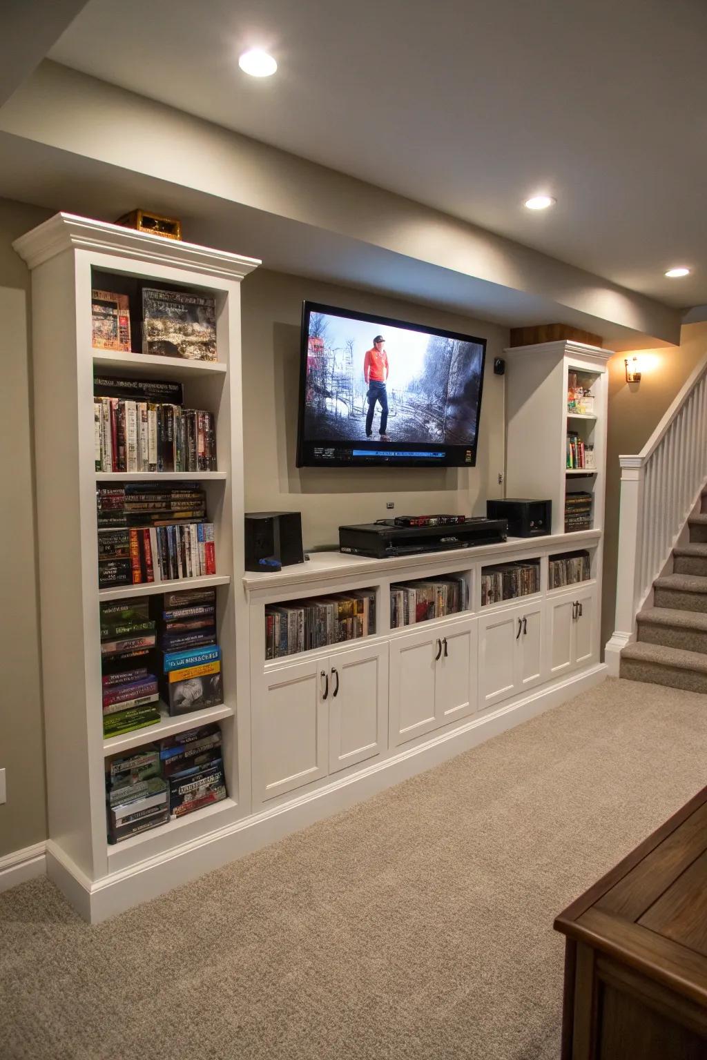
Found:
<path fill-rule="evenodd" d="M 48 211 L 0 199 L 0 856 L 46 837 L 45 742 L 39 674 L 36 525 L 32 471 L 29 347 L 30 273 L 12 241 Z"/>

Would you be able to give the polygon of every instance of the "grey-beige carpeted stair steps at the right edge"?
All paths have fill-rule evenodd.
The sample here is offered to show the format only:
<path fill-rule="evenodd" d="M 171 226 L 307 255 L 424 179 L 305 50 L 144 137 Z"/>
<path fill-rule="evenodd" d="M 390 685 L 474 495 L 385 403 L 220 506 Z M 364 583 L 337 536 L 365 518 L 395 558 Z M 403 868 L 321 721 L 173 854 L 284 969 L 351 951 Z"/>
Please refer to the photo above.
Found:
<path fill-rule="evenodd" d="M 653 582 L 653 606 L 636 616 L 638 639 L 621 651 L 620 676 L 707 693 L 707 492 L 672 550 L 673 573 Z"/>

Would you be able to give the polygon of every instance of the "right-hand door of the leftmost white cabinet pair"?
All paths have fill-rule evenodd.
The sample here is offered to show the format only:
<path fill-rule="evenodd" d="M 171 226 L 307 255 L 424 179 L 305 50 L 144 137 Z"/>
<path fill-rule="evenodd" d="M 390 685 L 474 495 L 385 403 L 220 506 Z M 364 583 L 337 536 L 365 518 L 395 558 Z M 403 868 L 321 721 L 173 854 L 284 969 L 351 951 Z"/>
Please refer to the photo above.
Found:
<path fill-rule="evenodd" d="M 329 660 L 329 772 L 375 758 L 387 745 L 388 646 Z"/>

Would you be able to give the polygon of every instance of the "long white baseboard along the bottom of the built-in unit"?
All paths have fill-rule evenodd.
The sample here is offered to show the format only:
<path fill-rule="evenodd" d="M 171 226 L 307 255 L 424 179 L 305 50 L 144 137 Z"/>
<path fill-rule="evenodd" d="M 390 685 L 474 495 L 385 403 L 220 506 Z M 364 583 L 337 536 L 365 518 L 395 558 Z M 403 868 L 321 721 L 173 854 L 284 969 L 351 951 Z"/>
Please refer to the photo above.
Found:
<path fill-rule="evenodd" d="M 529 721 L 571 696 L 588 691 L 606 677 L 606 666 L 598 662 L 549 688 L 537 689 L 523 700 L 473 718 L 452 731 L 438 734 L 358 773 L 296 796 L 288 802 L 266 808 L 94 882 L 89 881 L 50 840 L 47 844 L 48 874 L 86 920 L 99 923 Z"/>

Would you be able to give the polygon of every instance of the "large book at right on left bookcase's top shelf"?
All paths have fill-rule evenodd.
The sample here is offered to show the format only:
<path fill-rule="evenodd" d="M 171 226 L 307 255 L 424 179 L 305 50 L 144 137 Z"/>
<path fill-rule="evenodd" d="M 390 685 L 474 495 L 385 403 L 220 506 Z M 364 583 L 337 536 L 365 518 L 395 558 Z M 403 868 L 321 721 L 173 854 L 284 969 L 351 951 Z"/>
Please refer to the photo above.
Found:
<path fill-rule="evenodd" d="M 185 290 L 142 290 L 142 352 L 190 360 L 216 359 L 216 302 Z"/>

